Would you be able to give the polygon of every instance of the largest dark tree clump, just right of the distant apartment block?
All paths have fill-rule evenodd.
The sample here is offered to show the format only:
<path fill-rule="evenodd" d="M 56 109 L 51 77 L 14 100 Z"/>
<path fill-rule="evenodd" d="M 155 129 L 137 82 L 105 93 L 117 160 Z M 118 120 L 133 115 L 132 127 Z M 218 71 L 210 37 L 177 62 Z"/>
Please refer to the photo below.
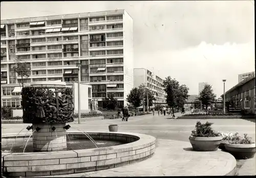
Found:
<path fill-rule="evenodd" d="M 166 103 L 170 107 L 183 107 L 185 100 L 188 98 L 189 88 L 182 84 L 180 85 L 176 79 L 172 79 L 170 76 L 163 81 L 164 91 L 166 92 Z"/>

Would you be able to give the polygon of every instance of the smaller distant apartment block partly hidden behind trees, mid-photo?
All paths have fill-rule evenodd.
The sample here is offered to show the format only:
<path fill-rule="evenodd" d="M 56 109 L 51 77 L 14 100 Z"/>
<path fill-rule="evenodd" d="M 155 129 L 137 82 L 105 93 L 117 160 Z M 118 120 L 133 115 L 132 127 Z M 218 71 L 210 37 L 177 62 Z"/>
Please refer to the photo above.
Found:
<path fill-rule="evenodd" d="M 163 87 L 163 79 L 159 76 L 154 75 L 151 71 L 144 68 L 137 68 L 134 72 L 134 87 L 138 87 L 140 84 L 145 84 L 156 98 L 156 103 L 166 102 Z"/>

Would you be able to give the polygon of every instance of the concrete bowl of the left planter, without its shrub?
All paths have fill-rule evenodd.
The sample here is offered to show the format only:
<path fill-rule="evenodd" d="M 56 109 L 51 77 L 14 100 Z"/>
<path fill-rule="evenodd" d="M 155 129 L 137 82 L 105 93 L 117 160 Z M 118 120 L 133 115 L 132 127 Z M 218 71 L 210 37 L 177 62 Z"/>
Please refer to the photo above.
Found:
<path fill-rule="evenodd" d="M 221 141 L 222 137 L 189 137 L 189 142 L 196 151 L 216 151 Z"/>

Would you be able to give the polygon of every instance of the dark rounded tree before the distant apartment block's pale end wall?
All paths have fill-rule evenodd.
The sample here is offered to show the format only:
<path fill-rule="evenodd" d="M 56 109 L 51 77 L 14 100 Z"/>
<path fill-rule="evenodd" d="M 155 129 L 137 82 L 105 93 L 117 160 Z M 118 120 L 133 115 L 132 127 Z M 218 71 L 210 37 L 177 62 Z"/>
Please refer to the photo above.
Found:
<path fill-rule="evenodd" d="M 137 108 L 141 105 L 142 100 L 142 95 L 137 87 L 133 88 L 126 98 L 126 101 L 132 104 L 135 107 L 135 110 L 137 110 Z"/>

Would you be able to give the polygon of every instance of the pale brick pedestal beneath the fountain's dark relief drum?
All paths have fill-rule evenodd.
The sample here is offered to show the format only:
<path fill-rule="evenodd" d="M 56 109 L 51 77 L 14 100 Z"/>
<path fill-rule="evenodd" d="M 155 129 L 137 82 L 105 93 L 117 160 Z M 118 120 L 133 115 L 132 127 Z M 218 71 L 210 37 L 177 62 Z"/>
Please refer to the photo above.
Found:
<path fill-rule="evenodd" d="M 34 151 L 60 151 L 67 149 L 66 129 L 62 124 L 33 124 Z M 36 131 L 36 127 L 40 128 Z M 55 130 L 52 128 L 55 127 Z"/>

